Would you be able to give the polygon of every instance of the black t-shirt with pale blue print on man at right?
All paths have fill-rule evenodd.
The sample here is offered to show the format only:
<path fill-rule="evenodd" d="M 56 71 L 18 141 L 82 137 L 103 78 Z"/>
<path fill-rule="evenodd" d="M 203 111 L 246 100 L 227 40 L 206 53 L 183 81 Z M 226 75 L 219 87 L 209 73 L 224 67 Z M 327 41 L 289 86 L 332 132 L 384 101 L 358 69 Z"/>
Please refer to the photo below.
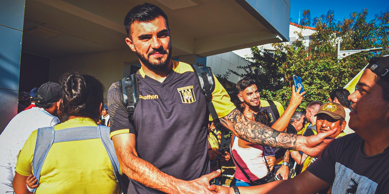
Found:
<path fill-rule="evenodd" d="M 332 194 L 389 193 L 389 150 L 366 156 L 363 144 L 356 133 L 335 139 L 307 170 L 333 184 Z"/>

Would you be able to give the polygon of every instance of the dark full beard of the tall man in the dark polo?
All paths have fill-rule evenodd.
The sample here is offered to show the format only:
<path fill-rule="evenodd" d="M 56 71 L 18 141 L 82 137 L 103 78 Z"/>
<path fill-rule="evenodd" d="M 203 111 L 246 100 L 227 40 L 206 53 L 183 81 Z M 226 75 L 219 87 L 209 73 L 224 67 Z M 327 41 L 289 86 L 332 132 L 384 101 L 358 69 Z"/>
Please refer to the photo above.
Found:
<path fill-rule="evenodd" d="M 151 61 L 149 61 L 149 59 L 147 59 L 148 57 L 150 57 L 150 55 L 156 53 L 156 52 L 159 52 L 160 54 L 168 54 L 167 57 L 166 57 L 166 60 L 163 61 L 163 59 L 161 57 L 158 57 L 157 60 L 158 62 L 156 63 L 152 63 Z M 172 46 L 170 46 L 170 49 L 169 51 L 161 48 L 161 49 L 157 49 L 157 50 L 152 50 L 150 53 L 147 54 L 147 58 L 140 54 L 138 51 L 136 51 L 137 53 L 137 56 L 139 58 L 139 60 L 148 68 L 148 69 L 154 69 L 154 70 L 161 70 L 161 69 L 165 69 L 166 66 L 168 66 L 168 64 L 170 63 L 170 58 L 172 57 Z"/>

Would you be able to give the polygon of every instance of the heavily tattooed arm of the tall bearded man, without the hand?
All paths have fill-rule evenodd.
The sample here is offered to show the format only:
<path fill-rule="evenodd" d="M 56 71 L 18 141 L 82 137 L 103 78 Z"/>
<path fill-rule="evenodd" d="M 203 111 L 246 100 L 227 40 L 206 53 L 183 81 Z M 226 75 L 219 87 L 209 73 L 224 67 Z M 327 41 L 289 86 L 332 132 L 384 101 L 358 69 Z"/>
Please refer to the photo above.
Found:
<path fill-rule="evenodd" d="M 282 133 L 262 123 L 248 120 L 237 109 L 221 118 L 220 122 L 239 138 L 254 144 L 291 150 L 301 150 L 303 148 L 304 137 L 301 137 L 301 135 Z"/>

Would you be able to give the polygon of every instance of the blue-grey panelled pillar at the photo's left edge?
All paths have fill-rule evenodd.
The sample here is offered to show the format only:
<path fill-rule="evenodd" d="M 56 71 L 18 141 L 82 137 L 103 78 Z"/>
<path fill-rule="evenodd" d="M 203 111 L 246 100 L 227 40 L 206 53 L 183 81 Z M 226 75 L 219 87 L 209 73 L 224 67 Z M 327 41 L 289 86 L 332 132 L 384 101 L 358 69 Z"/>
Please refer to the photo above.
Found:
<path fill-rule="evenodd" d="M 0 1 L 0 133 L 18 111 L 25 0 Z"/>

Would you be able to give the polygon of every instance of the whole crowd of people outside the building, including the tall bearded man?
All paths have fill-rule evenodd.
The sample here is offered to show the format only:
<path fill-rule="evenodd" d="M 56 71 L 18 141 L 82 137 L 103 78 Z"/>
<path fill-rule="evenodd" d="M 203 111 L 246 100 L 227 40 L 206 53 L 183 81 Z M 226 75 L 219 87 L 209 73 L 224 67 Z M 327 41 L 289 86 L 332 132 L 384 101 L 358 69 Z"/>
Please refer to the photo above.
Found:
<path fill-rule="evenodd" d="M 190 66 L 170 60 L 159 7 L 138 5 L 124 24 L 142 62 L 138 89 L 156 98 L 131 115 L 123 83 L 112 84 L 107 106 L 103 84 L 80 73 L 21 92 L 23 111 L 0 135 L 0 194 L 389 192 L 389 56 L 371 59 L 354 93 L 338 88 L 303 114 L 301 87 L 291 88 L 286 109 L 261 99 L 249 79 L 238 81 L 235 105 L 217 80 L 202 94 Z M 221 147 L 222 127 L 233 132 L 230 149 Z M 223 187 L 221 162 L 231 158 L 235 175 Z"/>

